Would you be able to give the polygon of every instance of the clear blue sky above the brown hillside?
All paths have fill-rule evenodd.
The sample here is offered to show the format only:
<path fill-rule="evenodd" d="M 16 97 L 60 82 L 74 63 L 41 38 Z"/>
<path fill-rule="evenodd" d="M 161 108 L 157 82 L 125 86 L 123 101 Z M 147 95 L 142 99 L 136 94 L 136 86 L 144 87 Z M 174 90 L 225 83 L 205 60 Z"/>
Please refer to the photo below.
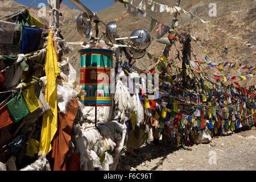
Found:
<path fill-rule="evenodd" d="M 22 5 L 28 6 L 30 5 L 34 0 L 14 0 Z M 106 7 L 109 7 L 114 4 L 113 0 L 80 0 L 81 3 L 83 3 L 86 7 L 88 7 L 91 11 L 93 12 L 98 12 Z M 32 7 L 38 7 L 39 3 L 46 3 L 48 5 L 47 0 L 36 0 L 33 4 Z M 63 0 L 62 3 L 65 5 L 77 9 L 71 2 L 68 0 Z"/>

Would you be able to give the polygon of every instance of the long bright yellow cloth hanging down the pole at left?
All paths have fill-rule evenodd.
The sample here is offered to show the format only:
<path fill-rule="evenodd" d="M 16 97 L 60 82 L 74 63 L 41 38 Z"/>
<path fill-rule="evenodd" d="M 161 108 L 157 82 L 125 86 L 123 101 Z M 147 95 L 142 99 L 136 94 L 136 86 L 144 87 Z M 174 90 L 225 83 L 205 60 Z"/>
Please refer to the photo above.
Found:
<path fill-rule="evenodd" d="M 48 34 L 46 63 L 44 65 L 46 71 L 46 102 L 51 107 L 43 115 L 42 131 L 40 138 L 40 151 L 47 155 L 51 151 L 51 141 L 57 131 L 57 90 L 56 77 L 60 75 L 60 69 L 57 63 L 57 56 L 52 42 L 52 31 Z"/>

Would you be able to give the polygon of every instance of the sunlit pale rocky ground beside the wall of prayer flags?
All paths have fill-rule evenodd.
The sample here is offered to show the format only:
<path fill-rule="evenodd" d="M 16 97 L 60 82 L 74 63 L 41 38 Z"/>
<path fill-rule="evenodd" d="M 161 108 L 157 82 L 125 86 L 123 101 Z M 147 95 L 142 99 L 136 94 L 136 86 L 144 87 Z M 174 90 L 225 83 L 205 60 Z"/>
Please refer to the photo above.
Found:
<path fill-rule="evenodd" d="M 226 137 L 214 137 L 191 151 L 145 144 L 138 156 L 123 155 L 125 171 L 254 171 L 256 170 L 256 127 Z M 214 155 L 216 154 L 216 164 Z M 146 159 L 146 160 L 145 160 Z M 210 164 L 209 163 L 212 163 Z"/>

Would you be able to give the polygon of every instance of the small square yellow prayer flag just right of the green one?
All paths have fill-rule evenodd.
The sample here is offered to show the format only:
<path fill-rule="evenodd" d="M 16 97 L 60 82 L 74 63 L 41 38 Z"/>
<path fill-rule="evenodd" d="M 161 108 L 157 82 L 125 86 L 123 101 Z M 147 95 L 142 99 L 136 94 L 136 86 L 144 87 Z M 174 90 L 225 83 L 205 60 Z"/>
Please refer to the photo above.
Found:
<path fill-rule="evenodd" d="M 27 103 L 27 107 L 30 110 L 30 113 L 32 113 L 41 106 L 38 98 L 36 98 L 35 96 L 34 85 L 31 85 L 27 89 L 24 89 L 22 94 L 24 100 Z"/>

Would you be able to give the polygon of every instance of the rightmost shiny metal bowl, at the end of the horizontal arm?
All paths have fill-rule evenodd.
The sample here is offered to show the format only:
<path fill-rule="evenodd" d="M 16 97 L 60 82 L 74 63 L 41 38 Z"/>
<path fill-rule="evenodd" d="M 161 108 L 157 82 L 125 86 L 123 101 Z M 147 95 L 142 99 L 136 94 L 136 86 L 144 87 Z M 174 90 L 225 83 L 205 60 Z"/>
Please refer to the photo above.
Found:
<path fill-rule="evenodd" d="M 137 39 L 131 39 L 131 47 L 138 50 L 146 49 L 151 44 L 151 35 L 147 30 L 139 28 L 131 33 L 131 36 L 139 36 Z"/>

